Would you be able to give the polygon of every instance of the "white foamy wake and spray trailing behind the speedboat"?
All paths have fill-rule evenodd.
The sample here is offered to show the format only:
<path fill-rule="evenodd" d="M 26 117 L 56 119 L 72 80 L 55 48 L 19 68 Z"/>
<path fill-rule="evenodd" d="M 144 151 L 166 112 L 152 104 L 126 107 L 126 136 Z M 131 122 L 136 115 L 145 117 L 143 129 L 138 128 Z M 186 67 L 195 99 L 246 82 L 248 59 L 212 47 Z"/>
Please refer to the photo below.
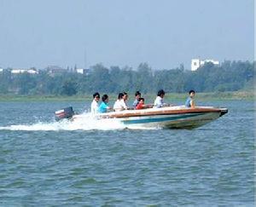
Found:
<path fill-rule="evenodd" d="M 24 130 L 24 131 L 59 131 L 59 130 L 116 130 L 116 129 L 148 129 L 142 127 L 127 127 L 115 118 L 96 119 L 90 113 L 84 113 L 82 118 L 74 121 L 67 119 L 60 122 L 38 122 L 36 124 L 17 124 L 0 126 L 0 130 Z"/>

